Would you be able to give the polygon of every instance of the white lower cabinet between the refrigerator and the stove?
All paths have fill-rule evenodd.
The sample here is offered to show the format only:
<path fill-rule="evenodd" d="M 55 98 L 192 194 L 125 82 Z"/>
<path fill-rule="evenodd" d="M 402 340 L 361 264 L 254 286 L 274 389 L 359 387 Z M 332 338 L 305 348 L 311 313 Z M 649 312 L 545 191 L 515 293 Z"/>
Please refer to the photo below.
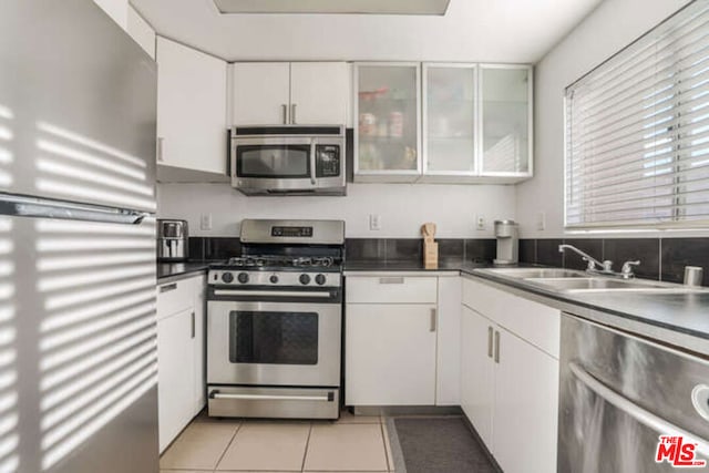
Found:
<path fill-rule="evenodd" d="M 157 287 L 160 450 L 205 405 L 205 277 Z"/>

